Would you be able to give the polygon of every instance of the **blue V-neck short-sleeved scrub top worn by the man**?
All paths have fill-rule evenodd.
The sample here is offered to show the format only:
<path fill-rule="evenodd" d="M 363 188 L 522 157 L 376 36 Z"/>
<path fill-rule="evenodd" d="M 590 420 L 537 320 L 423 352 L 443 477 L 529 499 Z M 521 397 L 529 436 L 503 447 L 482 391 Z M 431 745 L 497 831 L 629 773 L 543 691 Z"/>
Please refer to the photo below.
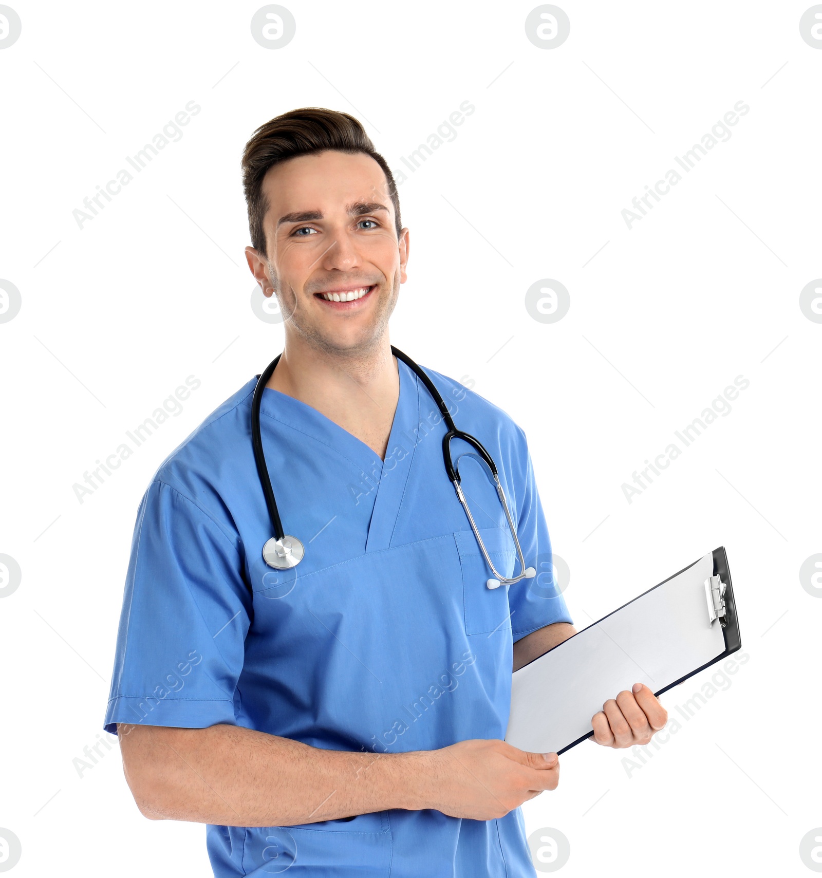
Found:
<path fill-rule="evenodd" d="M 252 378 L 163 461 L 134 528 L 105 730 L 215 723 L 330 750 L 435 750 L 504 738 L 513 643 L 571 622 L 523 430 L 426 372 L 500 473 L 526 565 L 491 575 L 443 466 L 446 427 L 405 363 L 386 459 L 314 408 L 263 392 L 263 450 L 285 532 L 306 556 L 263 561 L 269 516 L 251 446 Z M 514 544 L 472 448 L 452 444 L 494 565 Z M 316 802 L 319 806 L 321 802 Z M 286 827 L 206 827 L 218 878 L 534 876 L 522 812 L 497 820 L 385 810 Z"/>

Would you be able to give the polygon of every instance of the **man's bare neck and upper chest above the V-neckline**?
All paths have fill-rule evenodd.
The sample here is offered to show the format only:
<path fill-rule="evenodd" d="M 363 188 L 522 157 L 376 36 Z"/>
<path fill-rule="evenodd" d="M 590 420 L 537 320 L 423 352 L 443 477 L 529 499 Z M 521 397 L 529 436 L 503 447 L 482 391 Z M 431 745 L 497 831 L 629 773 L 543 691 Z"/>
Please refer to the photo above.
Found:
<path fill-rule="evenodd" d="M 286 338 L 267 387 L 311 406 L 385 458 L 400 375 L 387 333 L 368 350 L 319 349 Z"/>

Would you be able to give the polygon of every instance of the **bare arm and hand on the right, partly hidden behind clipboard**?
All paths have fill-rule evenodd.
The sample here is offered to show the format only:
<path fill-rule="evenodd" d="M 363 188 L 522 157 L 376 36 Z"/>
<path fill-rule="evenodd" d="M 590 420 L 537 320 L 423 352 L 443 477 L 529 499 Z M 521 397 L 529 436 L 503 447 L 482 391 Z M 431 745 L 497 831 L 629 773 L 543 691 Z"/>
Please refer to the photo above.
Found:
<path fill-rule="evenodd" d="M 522 637 L 514 644 L 514 670 L 538 659 L 545 652 L 572 637 L 577 631 L 566 622 L 546 625 Z M 616 698 L 609 698 L 602 710 L 591 718 L 593 738 L 605 747 L 631 747 L 647 744 L 653 735 L 665 728 L 667 710 L 643 683 L 635 683 Z"/>

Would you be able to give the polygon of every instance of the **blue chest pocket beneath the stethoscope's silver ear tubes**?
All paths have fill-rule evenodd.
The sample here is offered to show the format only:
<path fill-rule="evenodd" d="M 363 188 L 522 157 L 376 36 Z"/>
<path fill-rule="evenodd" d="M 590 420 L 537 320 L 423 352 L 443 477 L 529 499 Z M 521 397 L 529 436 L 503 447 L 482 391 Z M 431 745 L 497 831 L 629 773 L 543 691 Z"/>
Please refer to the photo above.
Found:
<path fill-rule="evenodd" d="M 503 576 L 514 572 L 516 551 L 508 529 L 480 528 L 479 536 L 494 567 Z M 511 630 L 508 608 L 509 586 L 488 588 L 487 581 L 494 576 L 479 549 L 477 537 L 472 530 L 454 532 L 463 576 L 463 602 L 465 606 L 466 634 L 500 634 Z"/>

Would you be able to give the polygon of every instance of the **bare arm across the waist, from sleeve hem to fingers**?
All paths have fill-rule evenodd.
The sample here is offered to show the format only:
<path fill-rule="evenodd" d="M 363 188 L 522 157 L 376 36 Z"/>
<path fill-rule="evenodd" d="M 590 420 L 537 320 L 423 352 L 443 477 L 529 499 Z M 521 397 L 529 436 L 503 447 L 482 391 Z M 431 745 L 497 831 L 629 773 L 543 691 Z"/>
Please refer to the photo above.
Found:
<path fill-rule="evenodd" d="M 393 808 L 491 820 L 559 782 L 555 753 L 497 740 L 373 753 L 321 750 L 223 724 L 119 723 L 118 736 L 128 786 L 153 820 L 292 826 Z"/>

